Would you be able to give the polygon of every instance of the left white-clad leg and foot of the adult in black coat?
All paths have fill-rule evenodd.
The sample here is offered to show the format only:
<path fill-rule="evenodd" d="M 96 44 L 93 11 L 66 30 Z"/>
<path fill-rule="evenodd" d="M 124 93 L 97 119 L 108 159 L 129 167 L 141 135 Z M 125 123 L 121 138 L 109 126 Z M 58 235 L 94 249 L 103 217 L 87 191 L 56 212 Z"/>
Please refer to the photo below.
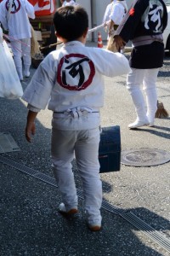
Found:
<path fill-rule="evenodd" d="M 127 75 L 127 90 L 133 99 L 133 104 L 137 114 L 136 121 L 128 125 L 129 128 L 137 128 L 149 124 L 146 116 L 144 96 L 140 89 L 141 84 L 143 84 L 144 72 L 145 69 L 132 68 L 132 71 Z"/>

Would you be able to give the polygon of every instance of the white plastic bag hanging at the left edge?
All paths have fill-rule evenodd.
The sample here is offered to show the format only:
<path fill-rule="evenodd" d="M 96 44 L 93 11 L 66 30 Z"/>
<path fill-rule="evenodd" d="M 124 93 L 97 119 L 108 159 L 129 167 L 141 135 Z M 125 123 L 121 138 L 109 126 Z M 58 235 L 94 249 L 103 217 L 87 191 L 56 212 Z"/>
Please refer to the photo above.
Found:
<path fill-rule="evenodd" d="M 22 85 L 16 71 L 8 44 L 3 40 L 0 27 L 0 96 L 7 99 L 18 99 L 23 95 Z"/>

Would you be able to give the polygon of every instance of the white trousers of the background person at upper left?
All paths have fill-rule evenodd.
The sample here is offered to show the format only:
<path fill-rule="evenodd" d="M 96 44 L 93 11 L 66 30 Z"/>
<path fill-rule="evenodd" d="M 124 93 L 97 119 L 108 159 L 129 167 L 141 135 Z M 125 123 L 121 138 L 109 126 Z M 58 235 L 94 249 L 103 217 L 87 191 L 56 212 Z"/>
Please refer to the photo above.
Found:
<path fill-rule="evenodd" d="M 14 64 L 20 80 L 23 79 L 22 59 L 24 64 L 24 75 L 28 76 L 31 67 L 31 38 L 11 41 L 14 55 Z"/>

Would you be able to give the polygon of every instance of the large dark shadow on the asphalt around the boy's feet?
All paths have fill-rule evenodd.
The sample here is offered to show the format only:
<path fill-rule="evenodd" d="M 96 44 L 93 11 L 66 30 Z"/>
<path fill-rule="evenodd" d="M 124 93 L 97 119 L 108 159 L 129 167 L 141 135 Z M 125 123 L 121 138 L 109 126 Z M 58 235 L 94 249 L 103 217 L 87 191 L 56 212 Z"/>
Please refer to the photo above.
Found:
<path fill-rule="evenodd" d="M 19 152 L 7 153 L 3 156 L 53 177 L 50 162 L 51 129 L 44 127 L 37 119 L 37 134 L 34 142 L 27 143 L 26 106 L 20 100 L 9 101 L 0 98 L 0 108 L 0 131 L 9 132 L 20 147 Z M 77 188 L 81 189 L 78 173 L 74 171 Z M 2 163 L 0 163 L 0 183 L 0 254 L 2 256 L 163 255 L 158 252 L 161 248 L 149 238 L 139 235 L 133 224 L 104 209 L 101 210 L 103 228 L 98 233 L 92 233 L 86 225 L 83 200 L 79 200 L 80 210 L 77 218 L 66 220 L 57 212 L 60 202 L 58 189 Z M 112 184 L 103 183 L 104 190 L 109 193 Z M 153 218 L 153 212 L 148 212 L 144 208 L 128 209 L 128 211 L 141 215 L 143 219 L 144 217 L 148 219 L 150 216 L 156 230 L 162 230 L 162 226 L 167 230 L 167 220 L 161 216 Z M 153 222 L 153 219 L 159 221 Z"/>

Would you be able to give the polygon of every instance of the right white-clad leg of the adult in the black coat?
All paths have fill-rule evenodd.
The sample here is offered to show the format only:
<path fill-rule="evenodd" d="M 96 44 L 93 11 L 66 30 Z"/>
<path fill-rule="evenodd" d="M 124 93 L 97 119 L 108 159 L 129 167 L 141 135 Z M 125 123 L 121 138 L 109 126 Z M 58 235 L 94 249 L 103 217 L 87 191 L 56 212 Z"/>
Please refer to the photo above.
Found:
<path fill-rule="evenodd" d="M 157 110 L 157 92 L 156 79 L 159 68 L 147 69 L 144 73 L 144 92 L 146 96 L 147 117 L 150 126 L 154 125 L 156 110 Z"/>

